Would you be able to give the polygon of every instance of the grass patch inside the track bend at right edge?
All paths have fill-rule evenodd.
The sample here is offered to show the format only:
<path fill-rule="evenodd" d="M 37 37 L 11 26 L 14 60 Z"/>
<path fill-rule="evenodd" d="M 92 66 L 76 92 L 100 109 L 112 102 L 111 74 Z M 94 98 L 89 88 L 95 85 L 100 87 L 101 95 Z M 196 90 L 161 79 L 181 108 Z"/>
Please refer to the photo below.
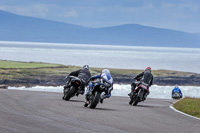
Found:
<path fill-rule="evenodd" d="M 173 106 L 186 114 L 200 118 L 200 99 L 198 98 L 185 97 Z"/>

